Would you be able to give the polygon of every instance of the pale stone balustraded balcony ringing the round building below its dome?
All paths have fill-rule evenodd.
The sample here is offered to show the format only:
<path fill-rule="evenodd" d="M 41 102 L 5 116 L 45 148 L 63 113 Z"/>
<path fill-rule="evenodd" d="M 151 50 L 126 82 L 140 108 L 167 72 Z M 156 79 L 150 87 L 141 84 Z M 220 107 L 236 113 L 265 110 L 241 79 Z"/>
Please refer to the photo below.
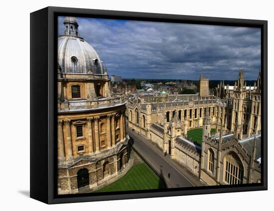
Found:
<path fill-rule="evenodd" d="M 111 106 L 118 106 L 126 104 L 124 97 L 102 97 L 92 100 L 66 100 L 64 102 L 58 101 L 58 112 L 68 111 L 83 111 L 91 109 L 103 109 Z"/>

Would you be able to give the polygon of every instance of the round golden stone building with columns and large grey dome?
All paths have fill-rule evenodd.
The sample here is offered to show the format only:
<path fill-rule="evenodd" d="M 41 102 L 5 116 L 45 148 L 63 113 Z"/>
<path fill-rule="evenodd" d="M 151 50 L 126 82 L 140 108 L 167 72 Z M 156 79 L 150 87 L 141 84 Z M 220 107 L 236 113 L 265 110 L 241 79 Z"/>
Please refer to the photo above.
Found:
<path fill-rule="evenodd" d="M 111 96 L 107 68 L 64 18 L 58 38 L 58 194 L 98 189 L 129 159 L 126 100 Z"/>

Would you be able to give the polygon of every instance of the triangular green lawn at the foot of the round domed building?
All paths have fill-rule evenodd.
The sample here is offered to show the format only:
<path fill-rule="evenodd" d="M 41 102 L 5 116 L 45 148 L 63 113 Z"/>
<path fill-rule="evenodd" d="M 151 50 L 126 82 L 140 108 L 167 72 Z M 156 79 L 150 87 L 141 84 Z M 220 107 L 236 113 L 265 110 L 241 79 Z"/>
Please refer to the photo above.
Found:
<path fill-rule="evenodd" d="M 146 164 L 142 163 L 134 165 L 124 177 L 94 193 L 160 188 L 166 188 L 165 183 Z"/>

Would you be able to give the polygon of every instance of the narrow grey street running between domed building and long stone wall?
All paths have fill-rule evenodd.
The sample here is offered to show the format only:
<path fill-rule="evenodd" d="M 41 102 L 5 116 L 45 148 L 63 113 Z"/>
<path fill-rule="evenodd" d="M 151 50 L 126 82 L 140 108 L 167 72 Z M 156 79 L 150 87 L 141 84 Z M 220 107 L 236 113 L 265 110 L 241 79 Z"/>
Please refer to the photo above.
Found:
<path fill-rule="evenodd" d="M 199 179 L 185 167 L 171 160 L 169 155 L 154 146 L 150 140 L 138 135 L 130 128 L 127 130 L 131 137 L 133 148 L 148 164 L 164 179 L 168 188 L 203 186 Z"/>

